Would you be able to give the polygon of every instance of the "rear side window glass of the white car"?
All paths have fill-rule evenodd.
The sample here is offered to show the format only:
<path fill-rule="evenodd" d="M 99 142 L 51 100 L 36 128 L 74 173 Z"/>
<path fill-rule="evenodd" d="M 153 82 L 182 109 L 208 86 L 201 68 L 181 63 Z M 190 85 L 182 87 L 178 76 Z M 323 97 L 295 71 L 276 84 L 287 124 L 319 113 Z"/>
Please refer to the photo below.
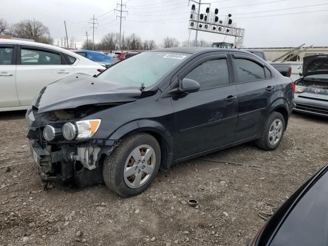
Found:
<path fill-rule="evenodd" d="M 58 53 L 42 50 L 21 49 L 22 65 L 61 65 L 61 56 Z"/>

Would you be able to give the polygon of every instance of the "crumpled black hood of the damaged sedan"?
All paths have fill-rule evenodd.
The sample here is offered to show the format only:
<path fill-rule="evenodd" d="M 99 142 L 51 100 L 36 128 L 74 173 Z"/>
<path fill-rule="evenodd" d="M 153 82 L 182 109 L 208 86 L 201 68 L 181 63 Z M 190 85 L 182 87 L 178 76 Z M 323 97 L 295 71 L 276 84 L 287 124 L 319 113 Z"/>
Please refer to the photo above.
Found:
<path fill-rule="evenodd" d="M 77 73 L 43 88 L 33 102 L 37 113 L 73 109 L 83 105 L 126 103 L 140 97 L 135 87 L 109 83 L 84 73 Z"/>

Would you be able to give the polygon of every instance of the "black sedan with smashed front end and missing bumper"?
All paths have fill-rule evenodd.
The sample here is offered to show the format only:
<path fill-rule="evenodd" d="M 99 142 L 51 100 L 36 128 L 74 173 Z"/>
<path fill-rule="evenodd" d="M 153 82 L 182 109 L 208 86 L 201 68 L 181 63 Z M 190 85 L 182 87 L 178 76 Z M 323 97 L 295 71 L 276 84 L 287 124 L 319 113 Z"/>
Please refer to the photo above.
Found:
<path fill-rule="evenodd" d="M 278 147 L 295 85 L 242 50 L 170 48 L 60 79 L 26 114 L 43 182 L 104 182 L 129 197 L 173 163 L 255 140 Z"/>

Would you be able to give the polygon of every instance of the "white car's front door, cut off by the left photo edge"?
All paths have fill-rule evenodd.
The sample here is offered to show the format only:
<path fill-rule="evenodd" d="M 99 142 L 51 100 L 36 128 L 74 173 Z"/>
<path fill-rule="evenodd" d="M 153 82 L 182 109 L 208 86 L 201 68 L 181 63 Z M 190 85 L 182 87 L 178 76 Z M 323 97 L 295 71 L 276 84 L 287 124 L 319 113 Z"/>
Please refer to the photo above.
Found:
<path fill-rule="evenodd" d="M 0 108 L 19 106 L 16 91 L 16 45 L 0 45 Z"/>

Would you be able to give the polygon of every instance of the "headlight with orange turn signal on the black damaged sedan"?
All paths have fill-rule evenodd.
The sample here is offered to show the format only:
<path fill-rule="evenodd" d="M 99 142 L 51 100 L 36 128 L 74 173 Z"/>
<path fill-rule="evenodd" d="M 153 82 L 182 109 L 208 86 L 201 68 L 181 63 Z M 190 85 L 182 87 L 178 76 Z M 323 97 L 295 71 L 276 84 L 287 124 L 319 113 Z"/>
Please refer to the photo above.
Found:
<path fill-rule="evenodd" d="M 67 122 L 63 127 L 63 136 L 67 140 L 86 139 L 92 137 L 100 126 L 101 119 Z"/>

